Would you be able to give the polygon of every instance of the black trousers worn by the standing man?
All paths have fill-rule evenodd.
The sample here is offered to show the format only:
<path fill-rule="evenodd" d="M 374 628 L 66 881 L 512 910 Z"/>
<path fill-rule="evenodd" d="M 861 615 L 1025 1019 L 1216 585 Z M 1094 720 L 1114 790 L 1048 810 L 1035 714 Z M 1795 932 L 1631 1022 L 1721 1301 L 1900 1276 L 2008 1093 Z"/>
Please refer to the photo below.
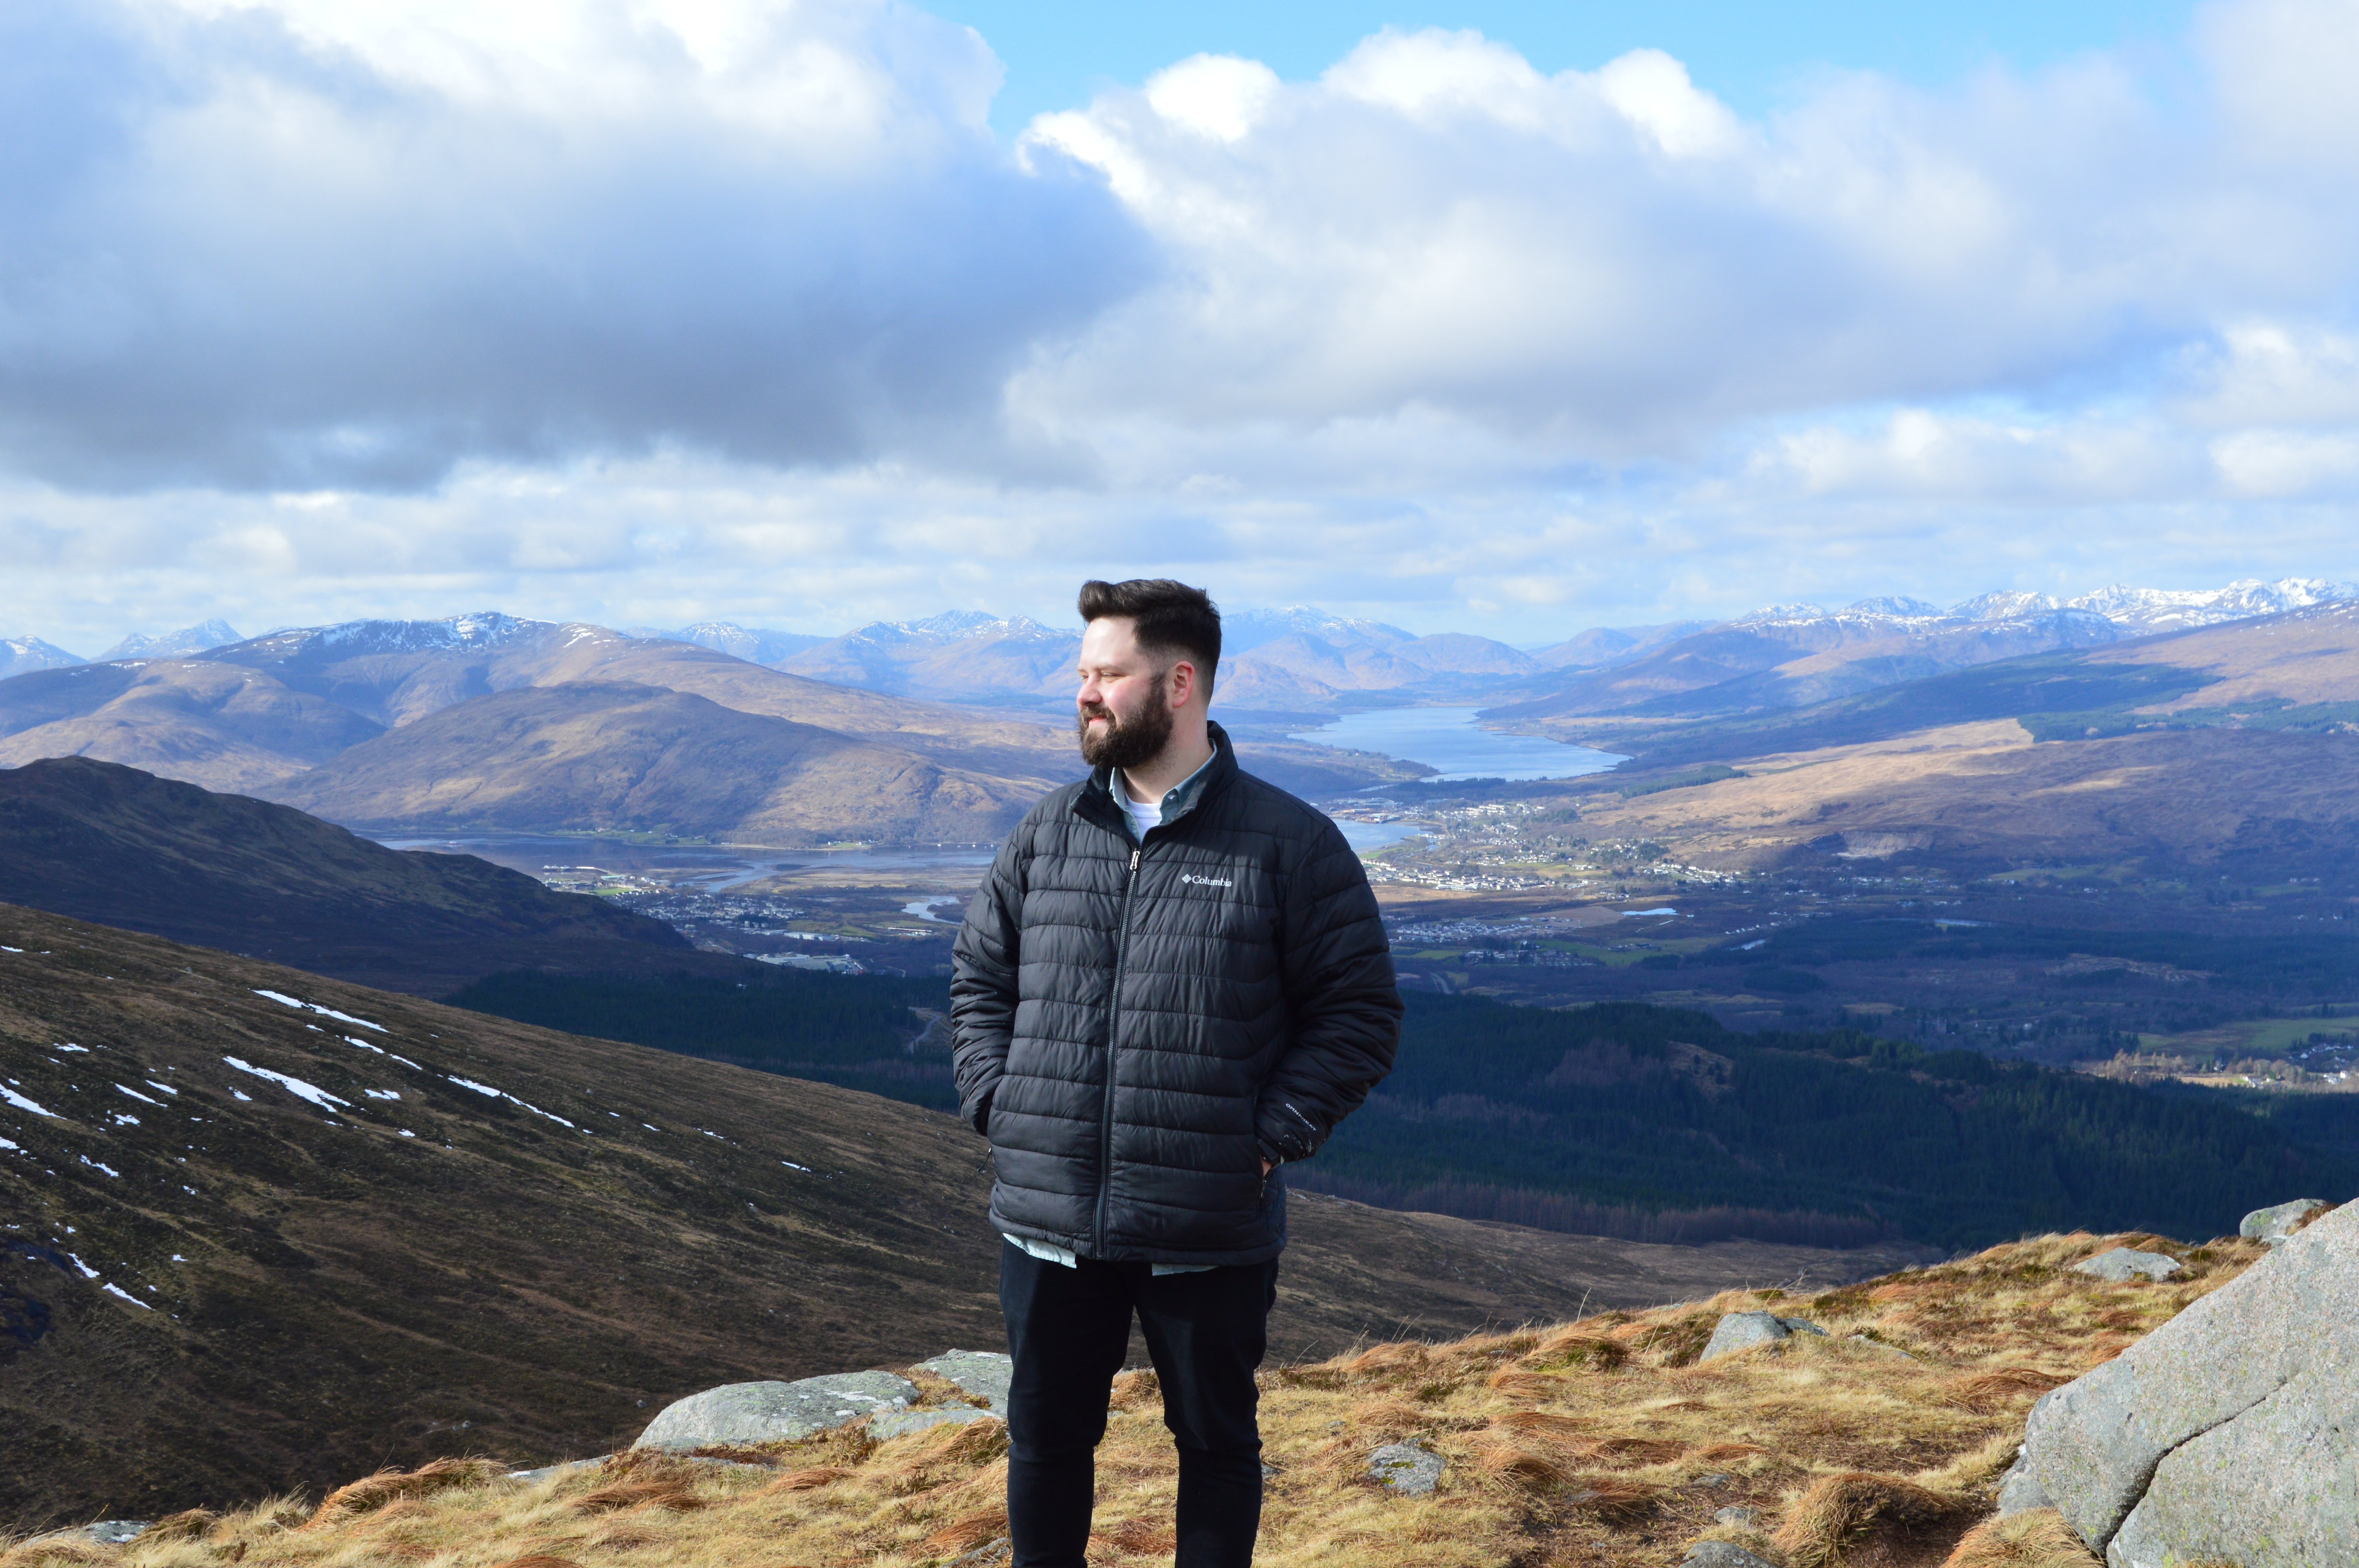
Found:
<path fill-rule="evenodd" d="M 1156 1276 L 1149 1264 L 1045 1264 L 1000 1247 L 1007 1389 L 1007 1535 L 1014 1568 L 1085 1568 L 1097 1441 L 1130 1349 L 1130 1316 L 1180 1445 L 1177 1568 L 1246 1568 L 1262 1528 L 1253 1370 L 1269 1349 L 1279 1261 Z"/>

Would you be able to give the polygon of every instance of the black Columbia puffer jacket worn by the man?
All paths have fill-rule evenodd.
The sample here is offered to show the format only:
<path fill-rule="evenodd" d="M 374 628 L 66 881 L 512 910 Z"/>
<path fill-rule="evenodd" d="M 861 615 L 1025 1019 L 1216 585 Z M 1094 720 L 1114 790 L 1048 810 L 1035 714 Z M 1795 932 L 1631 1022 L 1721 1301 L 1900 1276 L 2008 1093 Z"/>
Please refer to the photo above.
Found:
<path fill-rule="evenodd" d="M 1314 1153 L 1392 1068 L 1401 993 L 1359 856 L 1238 771 L 1217 724 L 1213 743 L 1191 809 L 1142 844 L 1104 769 L 1043 799 L 967 908 L 958 1094 L 1010 1236 L 1116 1261 L 1276 1257 L 1286 1184 L 1262 1160 Z"/>

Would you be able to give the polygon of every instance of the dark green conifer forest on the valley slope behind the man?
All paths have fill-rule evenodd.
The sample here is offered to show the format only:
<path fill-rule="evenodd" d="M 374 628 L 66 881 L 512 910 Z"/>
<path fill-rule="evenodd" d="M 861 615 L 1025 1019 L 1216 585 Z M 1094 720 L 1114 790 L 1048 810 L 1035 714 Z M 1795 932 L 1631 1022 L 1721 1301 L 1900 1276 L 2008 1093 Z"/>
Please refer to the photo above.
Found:
<path fill-rule="evenodd" d="M 1899 927 L 1904 922 L 1887 922 Z M 1812 927 L 1807 941 L 1951 941 Z M 2038 938 L 2031 934 L 2029 938 Z M 1967 934 L 1956 941 L 1998 941 Z M 2213 1096 L 2161 1096 L 1859 1033 L 1743 1035 L 1644 1004 L 1411 993 L 1399 1066 L 1297 1184 L 1401 1210 L 1637 1240 L 1989 1245 L 2071 1224 L 2208 1236 L 2286 1181 L 2359 1186 L 2359 1155 Z M 953 1106 L 941 981 L 774 986 L 507 974 L 453 997 L 771 1073 Z"/>

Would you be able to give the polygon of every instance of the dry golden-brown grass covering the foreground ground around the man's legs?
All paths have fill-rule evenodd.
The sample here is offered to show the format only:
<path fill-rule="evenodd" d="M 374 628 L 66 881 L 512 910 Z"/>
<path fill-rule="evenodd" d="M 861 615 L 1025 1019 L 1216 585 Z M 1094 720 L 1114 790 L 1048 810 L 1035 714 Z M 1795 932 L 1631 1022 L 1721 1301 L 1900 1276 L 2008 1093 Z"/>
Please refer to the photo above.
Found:
<path fill-rule="evenodd" d="M 2111 1245 L 2154 1245 L 2187 1271 L 2130 1285 L 2071 1273 Z M 1953 1544 L 1953 1568 L 2085 1568 L 2052 1526 L 1967 1530 L 2024 1412 L 2255 1257 L 2241 1240 L 2043 1236 L 1786 1299 L 1779 1311 L 1831 1337 L 1706 1365 L 1696 1351 L 1720 1313 L 1760 1297 L 1272 1368 L 1262 1431 L 1279 1474 L 1257 1561 L 1670 1568 L 1717 1535 L 1783 1568 L 1939 1563 Z M 1168 1563 L 1177 1476 L 1154 1375 L 1125 1375 L 1111 1405 L 1090 1561 Z M 1394 1441 L 1448 1460 L 1434 1495 L 1368 1478 L 1368 1455 Z M 127 1549 L 19 1542 L 0 1568 L 937 1568 L 1005 1537 L 1005 1424 L 974 1422 L 889 1443 L 849 1427 L 727 1455 L 738 1464 L 620 1455 L 535 1481 L 446 1462 L 432 1478 L 370 1476 L 316 1511 L 276 1500 Z M 1760 1509 L 1762 1528 L 1715 1526 L 1729 1504 Z"/>

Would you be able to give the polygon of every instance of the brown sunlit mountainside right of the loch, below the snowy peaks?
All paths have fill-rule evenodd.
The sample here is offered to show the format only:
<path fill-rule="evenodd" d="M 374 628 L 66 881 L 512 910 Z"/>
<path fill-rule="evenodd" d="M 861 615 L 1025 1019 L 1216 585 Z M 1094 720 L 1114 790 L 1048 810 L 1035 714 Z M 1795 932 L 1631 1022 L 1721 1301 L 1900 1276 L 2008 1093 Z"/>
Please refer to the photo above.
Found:
<path fill-rule="evenodd" d="M 1682 858 L 1800 854 L 2319 875 L 2359 854 L 2359 601 L 1989 663 L 1736 719 L 1533 726 L 1746 778 L 1583 804 Z"/>

